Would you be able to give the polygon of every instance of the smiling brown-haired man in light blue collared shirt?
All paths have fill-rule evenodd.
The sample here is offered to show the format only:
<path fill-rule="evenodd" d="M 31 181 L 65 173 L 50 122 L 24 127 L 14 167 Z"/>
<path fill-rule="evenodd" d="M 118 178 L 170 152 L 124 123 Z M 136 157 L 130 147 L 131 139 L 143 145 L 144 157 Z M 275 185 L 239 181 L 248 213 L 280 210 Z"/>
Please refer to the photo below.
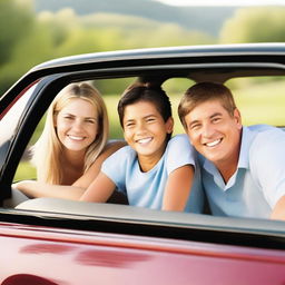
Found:
<path fill-rule="evenodd" d="M 285 132 L 245 127 L 230 90 L 215 82 L 190 87 L 179 118 L 199 153 L 213 215 L 285 219 Z"/>

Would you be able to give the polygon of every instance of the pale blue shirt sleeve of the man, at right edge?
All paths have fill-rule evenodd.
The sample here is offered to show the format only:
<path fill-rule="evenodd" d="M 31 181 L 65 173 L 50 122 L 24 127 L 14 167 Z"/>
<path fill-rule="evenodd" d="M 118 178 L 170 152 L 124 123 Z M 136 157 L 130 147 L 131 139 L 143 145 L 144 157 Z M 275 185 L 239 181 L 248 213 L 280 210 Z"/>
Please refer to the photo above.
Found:
<path fill-rule="evenodd" d="M 252 173 L 274 208 L 285 195 L 285 132 L 275 128 L 258 134 L 249 157 Z"/>

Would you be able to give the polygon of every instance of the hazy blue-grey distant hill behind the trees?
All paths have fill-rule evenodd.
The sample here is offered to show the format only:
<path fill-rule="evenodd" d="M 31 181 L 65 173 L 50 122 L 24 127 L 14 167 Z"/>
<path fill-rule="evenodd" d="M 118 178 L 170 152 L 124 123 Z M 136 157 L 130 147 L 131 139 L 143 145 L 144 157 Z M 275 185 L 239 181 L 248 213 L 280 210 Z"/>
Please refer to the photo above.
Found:
<path fill-rule="evenodd" d="M 217 36 L 237 7 L 174 7 L 155 0 L 35 0 L 37 12 L 72 8 L 77 14 L 117 13 L 177 23 L 186 29 Z"/>

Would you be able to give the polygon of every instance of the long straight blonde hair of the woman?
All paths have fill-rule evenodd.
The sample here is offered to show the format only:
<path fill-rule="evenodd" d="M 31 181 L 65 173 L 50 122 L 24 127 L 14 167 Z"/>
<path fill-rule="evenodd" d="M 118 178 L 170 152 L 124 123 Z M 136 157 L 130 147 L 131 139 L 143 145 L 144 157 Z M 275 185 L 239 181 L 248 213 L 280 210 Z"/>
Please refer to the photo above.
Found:
<path fill-rule="evenodd" d="M 55 121 L 58 112 L 75 98 L 89 101 L 98 112 L 98 135 L 87 148 L 83 171 L 94 164 L 107 144 L 109 121 L 100 92 L 86 82 L 68 85 L 57 95 L 49 107 L 43 131 L 32 147 L 31 160 L 37 167 L 39 181 L 59 185 L 62 183 L 62 168 L 65 167 L 61 161 L 62 144 L 58 139 Z"/>

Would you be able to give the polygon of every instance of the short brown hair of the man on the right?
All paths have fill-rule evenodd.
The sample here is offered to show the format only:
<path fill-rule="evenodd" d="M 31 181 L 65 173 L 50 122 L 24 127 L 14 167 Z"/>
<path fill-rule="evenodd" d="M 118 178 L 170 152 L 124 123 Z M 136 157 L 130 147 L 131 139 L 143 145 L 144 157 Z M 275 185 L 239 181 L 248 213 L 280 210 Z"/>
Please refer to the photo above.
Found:
<path fill-rule="evenodd" d="M 178 106 L 178 115 L 183 126 L 186 127 L 185 117 L 195 107 L 209 100 L 219 100 L 228 114 L 234 116 L 235 100 L 226 86 L 218 82 L 199 82 L 186 90 Z"/>

